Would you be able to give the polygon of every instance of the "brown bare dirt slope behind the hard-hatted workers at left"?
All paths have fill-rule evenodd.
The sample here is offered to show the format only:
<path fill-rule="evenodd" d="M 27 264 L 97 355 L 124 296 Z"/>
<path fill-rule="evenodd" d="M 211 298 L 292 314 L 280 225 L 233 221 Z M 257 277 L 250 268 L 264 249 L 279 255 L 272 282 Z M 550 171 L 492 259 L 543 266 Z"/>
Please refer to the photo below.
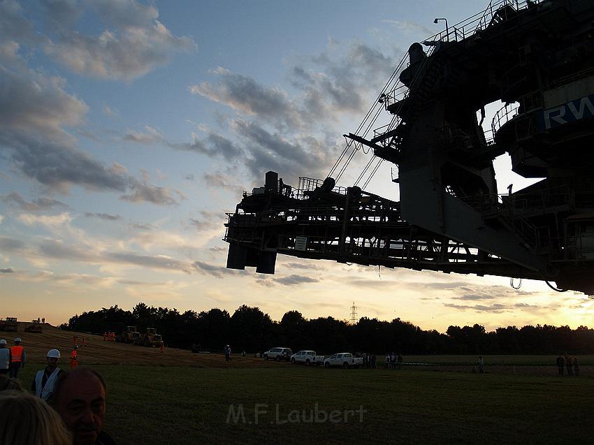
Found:
<path fill-rule="evenodd" d="M 19 332 L 1 332 L 0 338 L 6 339 L 8 346 L 12 346 L 15 337 L 22 338 L 22 346 L 27 351 L 27 362 L 45 363 L 45 355 L 52 348 L 59 349 L 60 362 L 68 363 L 72 351 L 73 335 L 78 335 L 79 344 L 82 335 L 87 337 L 87 346 L 79 346 L 78 360 L 80 365 L 93 364 L 132 364 L 157 366 L 196 366 L 196 367 L 269 367 L 283 366 L 285 363 L 264 362 L 261 358 L 233 355 L 233 360 L 226 363 L 222 354 L 198 354 L 183 349 L 166 348 L 161 353 L 158 348 L 145 348 L 117 342 L 104 342 L 99 335 L 88 335 L 72 331 L 64 331 L 45 323 L 43 333 L 34 334 L 24 332 L 29 323 L 19 323 Z"/>

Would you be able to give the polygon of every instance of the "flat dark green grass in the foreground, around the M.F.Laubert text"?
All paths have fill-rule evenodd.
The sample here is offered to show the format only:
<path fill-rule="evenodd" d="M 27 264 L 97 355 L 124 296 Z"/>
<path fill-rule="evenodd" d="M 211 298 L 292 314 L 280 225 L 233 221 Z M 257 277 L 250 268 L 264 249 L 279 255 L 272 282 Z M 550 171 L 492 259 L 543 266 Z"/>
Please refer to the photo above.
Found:
<path fill-rule="evenodd" d="M 470 360 L 470 358 L 468 358 Z M 102 365 L 106 430 L 122 444 L 591 443 L 594 379 L 470 372 Z M 34 369 L 21 374 L 27 387 Z M 243 404 L 245 423 L 227 423 Z M 256 404 L 266 413 L 255 424 Z M 277 423 L 294 410 L 340 422 Z M 345 410 L 363 407 L 359 414 Z M 309 418 L 309 412 L 307 412 Z M 321 414 L 319 414 L 321 416 Z M 300 419 L 303 415 L 299 414 Z M 251 422 L 251 423 L 250 423 Z"/>

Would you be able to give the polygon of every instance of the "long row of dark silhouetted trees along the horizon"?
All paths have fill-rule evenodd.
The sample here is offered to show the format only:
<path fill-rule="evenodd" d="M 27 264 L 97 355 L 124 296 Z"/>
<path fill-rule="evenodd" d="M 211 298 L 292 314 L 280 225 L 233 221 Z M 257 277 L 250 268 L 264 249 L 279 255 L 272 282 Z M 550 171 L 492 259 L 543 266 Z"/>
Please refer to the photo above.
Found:
<path fill-rule="evenodd" d="M 318 353 L 337 351 L 382 354 L 473 353 L 594 353 L 594 329 L 580 326 L 508 326 L 487 332 L 484 326 L 449 326 L 446 333 L 422 330 L 399 318 L 381 321 L 362 317 L 356 324 L 331 316 L 305 319 L 298 311 L 289 311 L 280 321 L 273 321 L 258 307 L 242 305 L 233 314 L 226 310 L 179 312 L 178 309 L 153 307 L 139 302 L 132 311 L 117 305 L 99 311 L 75 315 L 59 328 L 87 333 L 113 331 L 126 326 L 157 328 L 167 346 L 220 351 L 230 344 L 233 351 L 255 353 L 274 346 L 298 351 L 314 349 Z"/>

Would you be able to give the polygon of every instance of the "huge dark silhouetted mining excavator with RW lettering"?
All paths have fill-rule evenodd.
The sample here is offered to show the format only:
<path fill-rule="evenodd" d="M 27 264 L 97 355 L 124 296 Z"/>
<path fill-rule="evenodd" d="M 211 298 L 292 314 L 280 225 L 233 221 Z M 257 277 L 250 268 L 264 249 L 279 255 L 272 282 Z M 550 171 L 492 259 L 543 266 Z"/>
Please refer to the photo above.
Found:
<path fill-rule="evenodd" d="M 227 267 L 274 273 L 285 254 L 593 294 L 593 20 L 590 0 L 500 0 L 446 21 L 378 96 L 391 124 L 345 135 L 398 166 L 400 202 L 331 177 L 281 187 L 268 172 L 229 214 Z M 477 110 L 498 100 L 488 135 Z M 506 152 L 514 172 L 544 179 L 498 196 L 493 159 Z"/>

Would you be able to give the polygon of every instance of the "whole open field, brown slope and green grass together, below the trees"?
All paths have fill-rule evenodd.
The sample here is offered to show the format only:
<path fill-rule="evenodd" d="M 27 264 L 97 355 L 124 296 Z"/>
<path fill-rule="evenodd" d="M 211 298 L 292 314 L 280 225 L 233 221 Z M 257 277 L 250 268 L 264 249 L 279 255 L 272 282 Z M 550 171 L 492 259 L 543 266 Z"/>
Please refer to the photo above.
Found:
<path fill-rule="evenodd" d="M 46 326 L 19 335 L 29 360 L 19 377 L 29 388 L 48 349 L 69 355 L 73 333 Z M 88 340 L 79 359 L 106 377 L 106 430 L 119 445 L 591 444 L 594 437 L 594 356 L 579 356 L 580 377 L 562 378 L 556 356 L 486 356 L 485 374 L 471 372 L 476 356 L 405 356 L 422 365 L 403 370 L 381 363 L 326 370 Z"/>

